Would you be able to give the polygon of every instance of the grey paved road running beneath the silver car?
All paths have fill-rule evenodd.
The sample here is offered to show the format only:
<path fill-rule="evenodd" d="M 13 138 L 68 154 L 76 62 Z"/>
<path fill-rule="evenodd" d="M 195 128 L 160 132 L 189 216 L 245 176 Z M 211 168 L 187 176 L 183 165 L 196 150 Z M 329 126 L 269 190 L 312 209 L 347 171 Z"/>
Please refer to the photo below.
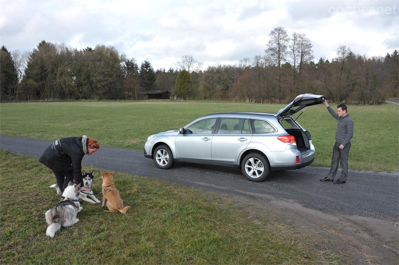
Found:
<path fill-rule="evenodd" d="M 0 137 L 0 148 L 38 157 L 50 143 Z M 398 220 L 399 217 L 399 173 L 350 171 L 347 183 L 333 185 L 319 181 L 326 175 L 327 168 L 307 167 L 274 172 L 266 181 L 254 183 L 247 181 L 241 171 L 233 168 L 176 163 L 170 170 L 160 170 L 153 160 L 144 158 L 142 151 L 106 147 L 93 156 L 85 156 L 83 163 L 263 203 L 282 200 L 328 213 L 356 214 L 385 220 Z"/>

